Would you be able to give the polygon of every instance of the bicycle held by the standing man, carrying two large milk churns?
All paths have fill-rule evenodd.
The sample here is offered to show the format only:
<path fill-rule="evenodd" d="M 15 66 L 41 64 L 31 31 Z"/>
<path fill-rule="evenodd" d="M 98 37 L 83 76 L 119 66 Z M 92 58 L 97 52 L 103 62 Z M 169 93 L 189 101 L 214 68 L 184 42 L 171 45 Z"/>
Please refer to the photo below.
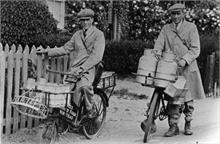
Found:
<path fill-rule="evenodd" d="M 144 131 L 144 139 L 143 142 L 146 143 L 150 140 L 151 134 L 156 132 L 156 125 L 155 120 L 159 117 L 159 120 L 162 121 L 167 118 L 167 106 L 165 104 L 165 101 L 169 101 L 172 99 L 170 95 L 164 92 L 165 89 L 171 89 L 173 91 L 173 87 L 171 84 L 175 83 L 177 80 L 177 76 L 175 80 L 169 80 L 164 78 L 158 78 L 158 77 L 152 77 L 150 74 L 148 76 L 146 75 L 140 75 L 134 73 L 136 76 L 143 76 L 145 77 L 145 83 L 142 84 L 142 86 L 152 87 L 155 88 L 153 95 L 150 99 L 150 103 L 148 105 L 148 109 L 146 110 L 145 116 L 147 117 L 142 123 L 141 128 Z M 163 86 L 155 85 L 155 80 L 163 80 L 170 83 L 168 85 L 168 88 Z M 187 91 L 187 89 L 181 89 L 178 91 L 178 95 L 184 96 L 184 93 Z"/>

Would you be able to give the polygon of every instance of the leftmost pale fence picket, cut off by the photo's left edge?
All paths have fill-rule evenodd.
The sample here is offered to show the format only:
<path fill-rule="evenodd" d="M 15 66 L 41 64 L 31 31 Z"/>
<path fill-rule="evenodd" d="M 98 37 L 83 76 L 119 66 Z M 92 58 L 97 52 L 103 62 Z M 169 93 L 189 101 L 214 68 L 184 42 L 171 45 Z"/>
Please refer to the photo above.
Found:
<path fill-rule="evenodd" d="M 5 53 L 3 46 L 0 43 L 0 143 L 3 136 L 3 110 L 4 110 L 4 95 L 5 95 Z"/>

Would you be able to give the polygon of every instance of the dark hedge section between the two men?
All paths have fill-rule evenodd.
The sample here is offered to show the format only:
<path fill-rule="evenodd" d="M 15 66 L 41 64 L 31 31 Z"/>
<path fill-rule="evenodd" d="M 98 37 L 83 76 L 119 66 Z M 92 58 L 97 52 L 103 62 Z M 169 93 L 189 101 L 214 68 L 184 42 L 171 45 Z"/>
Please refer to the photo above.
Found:
<path fill-rule="evenodd" d="M 105 69 L 120 75 L 136 72 L 145 48 L 152 48 L 152 45 L 140 40 L 107 42 L 103 58 Z"/>

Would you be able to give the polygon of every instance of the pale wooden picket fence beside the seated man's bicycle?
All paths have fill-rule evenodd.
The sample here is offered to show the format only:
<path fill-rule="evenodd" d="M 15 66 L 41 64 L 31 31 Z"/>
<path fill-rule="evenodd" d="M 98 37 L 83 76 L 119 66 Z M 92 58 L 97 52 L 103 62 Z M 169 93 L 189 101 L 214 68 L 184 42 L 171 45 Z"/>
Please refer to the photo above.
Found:
<path fill-rule="evenodd" d="M 50 47 L 47 47 L 50 49 Z M 59 71 L 67 71 L 69 67 L 69 56 L 60 56 L 45 59 L 44 55 L 36 54 L 36 47 L 19 45 L 3 46 L 0 43 L 0 131 L 1 137 L 15 133 L 21 128 L 32 128 L 38 126 L 40 119 L 27 117 L 20 114 L 11 106 L 11 101 L 16 95 L 23 91 L 21 87 L 27 85 L 28 60 L 36 64 L 37 80 L 41 77 L 49 82 L 61 83 L 62 77 L 58 74 L 46 73 L 46 65 Z"/>

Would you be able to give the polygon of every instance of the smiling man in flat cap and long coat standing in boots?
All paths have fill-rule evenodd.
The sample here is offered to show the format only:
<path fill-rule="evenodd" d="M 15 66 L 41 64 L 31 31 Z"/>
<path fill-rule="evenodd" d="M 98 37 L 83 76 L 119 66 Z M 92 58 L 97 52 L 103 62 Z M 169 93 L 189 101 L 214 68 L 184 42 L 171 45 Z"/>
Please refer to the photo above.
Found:
<path fill-rule="evenodd" d="M 204 98 L 199 68 L 196 58 L 200 54 L 200 40 L 195 24 L 187 22 L 185 18 L 185 5 L 176 3 L 168 12 L 171 14 L 172 23 L 166 24 L 154 45 L 152 52 L 157 58 L 161 58 L 163 52 L 172 51 L 177 56 L 177 64 L 180 72 L 186 79 L 185 88 L 188 92 L 185 95 L 184 103 L 171 99 L 167 104 L 169 130 L 165 137 L 172 137 L 179 134 L 178 122 L 180 115 L 185 114 L 184 134 L 192 135 L 191 121 L 194 110 L 193 99 Z M 142 122 L 142 128 L 144 126 Z"/>

